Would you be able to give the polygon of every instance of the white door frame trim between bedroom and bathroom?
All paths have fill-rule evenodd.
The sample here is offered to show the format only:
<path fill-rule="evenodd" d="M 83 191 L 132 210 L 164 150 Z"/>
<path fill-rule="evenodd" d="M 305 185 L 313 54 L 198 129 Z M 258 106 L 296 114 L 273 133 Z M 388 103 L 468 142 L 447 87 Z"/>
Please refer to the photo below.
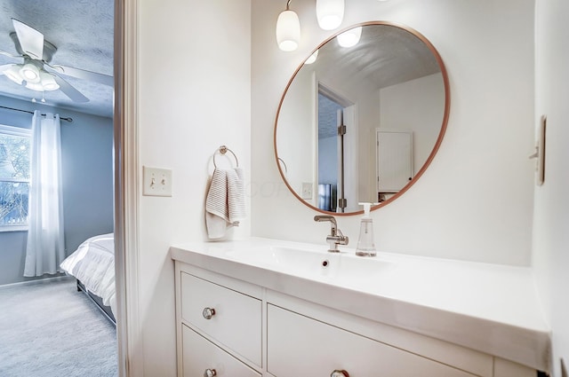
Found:
<path fill-rule="evenodd" d="M 142 376 L 139 318 L 138 0 L 115 0 L 115 288 L 118 375 Z"/>

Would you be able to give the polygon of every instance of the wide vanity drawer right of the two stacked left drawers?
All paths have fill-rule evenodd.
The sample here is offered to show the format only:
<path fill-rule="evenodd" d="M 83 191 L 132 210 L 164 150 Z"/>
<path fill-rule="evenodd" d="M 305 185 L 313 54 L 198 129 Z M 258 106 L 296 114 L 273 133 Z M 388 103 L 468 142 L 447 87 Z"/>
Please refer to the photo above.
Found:
<path fill-rule="evenodd" d="M 472 377 L 448 365 L 399 350 L 274 305 L 267 313 L 267 370 L 276 377 Z"/>

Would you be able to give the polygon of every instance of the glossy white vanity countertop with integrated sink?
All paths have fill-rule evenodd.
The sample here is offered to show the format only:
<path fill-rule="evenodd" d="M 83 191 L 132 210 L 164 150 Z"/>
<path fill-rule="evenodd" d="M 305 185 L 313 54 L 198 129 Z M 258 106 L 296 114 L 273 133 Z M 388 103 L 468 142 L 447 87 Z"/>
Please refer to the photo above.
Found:
<path fill-rule="evenodd" d="M 192 242 L 170 251 L 183 263 L 548 369 L 549 326 L 530 268 L 326 249 L 325 243 L 252 238 Z"/>

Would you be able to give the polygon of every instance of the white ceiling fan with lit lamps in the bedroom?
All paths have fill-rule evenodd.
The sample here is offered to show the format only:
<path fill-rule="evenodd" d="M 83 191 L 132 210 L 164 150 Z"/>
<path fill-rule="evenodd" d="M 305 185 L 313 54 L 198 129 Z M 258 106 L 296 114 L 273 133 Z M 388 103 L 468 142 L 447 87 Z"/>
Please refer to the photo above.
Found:
<path fill-rule="evenodd" d="M 65 81 L 60 74 L 76 77 L 91 82 L 113 86 L 112 76 L 102 75 L 84 69 L 51 65 L 53 54 L 57 51 L 52 43 L 44 39 L 44 35 L 34 27 L 30 27 L 19 20 L 12 19 L 15 32 L 10 36 L 20 55 L 13 55 L 9 52 L 0 50 L 0 54 L 10 58 L 21 59 L 23 63 L 12 63 L 0 66 L 0 73 L 3 73 L 12 82 L 23 85 L 30 90 L 49 91 L 61 90 L 68 98 L 75 102 L 88 102 L 79 90 L 76 90 L 70 83 Z"/>

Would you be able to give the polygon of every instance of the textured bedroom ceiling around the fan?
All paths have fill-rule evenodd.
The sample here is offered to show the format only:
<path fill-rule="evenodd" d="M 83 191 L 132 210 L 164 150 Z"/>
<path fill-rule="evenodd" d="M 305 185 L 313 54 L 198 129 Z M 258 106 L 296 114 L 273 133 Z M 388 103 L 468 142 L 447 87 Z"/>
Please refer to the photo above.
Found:
<path fill-rule="evenodd" d="M 10 37 L 13 18 L 36 28 L 57 47 L 52 65 L 113 75 L 114 0 L 0 0 L 0 10 L 0 50 L 18 55 Z M 22 61 L 0 55 L 0 65 Z M 89 102 L 73 102 L 60 90 L 54 90 L 44 92 L 46 105 L 113 116 L 113 88 L 61 76 Z M 24 100 L 42 98 L 41 92 L 21 87 L 4 75 L 0 75 L 0 95 Z"/>

